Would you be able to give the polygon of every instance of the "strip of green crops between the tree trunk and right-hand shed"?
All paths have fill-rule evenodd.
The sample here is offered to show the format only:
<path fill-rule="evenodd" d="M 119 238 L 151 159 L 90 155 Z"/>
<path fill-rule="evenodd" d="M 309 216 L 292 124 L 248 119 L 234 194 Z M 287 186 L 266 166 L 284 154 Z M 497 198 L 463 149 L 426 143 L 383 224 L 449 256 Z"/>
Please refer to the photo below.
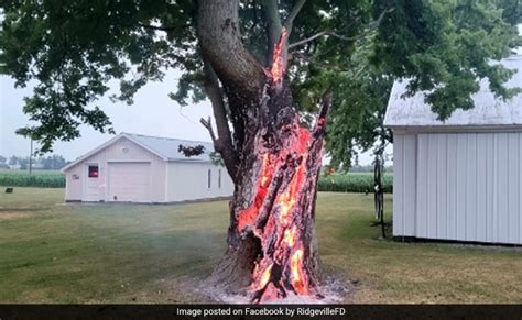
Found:
<path fill-rule="evenodd" d="M 384 174 L 382 178 L 384 192 L 393 191 L 393 175 Z M 373 192 L 373 173 L 347 173 L 322 175 L 318 181 L 319 191 L 333 192 Z"/>

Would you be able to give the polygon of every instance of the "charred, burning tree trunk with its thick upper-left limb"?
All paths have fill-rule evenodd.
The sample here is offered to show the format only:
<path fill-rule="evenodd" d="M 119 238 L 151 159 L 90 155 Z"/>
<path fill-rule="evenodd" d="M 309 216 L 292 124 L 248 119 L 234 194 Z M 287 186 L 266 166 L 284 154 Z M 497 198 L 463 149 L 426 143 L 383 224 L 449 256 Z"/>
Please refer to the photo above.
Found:
<path fill-rule="evenodd" d="M 228 250 L 211 280 L 248 288 L 252 302 L 289 294 L 317 296 L 315 199 L 329 98 L 312 131 L 284 80 L 286 33 L 263 70 L 242 47 L 238 0 L 199 1 L 202 52 L 224 86 L 240 152 L 230 201 Z"/>

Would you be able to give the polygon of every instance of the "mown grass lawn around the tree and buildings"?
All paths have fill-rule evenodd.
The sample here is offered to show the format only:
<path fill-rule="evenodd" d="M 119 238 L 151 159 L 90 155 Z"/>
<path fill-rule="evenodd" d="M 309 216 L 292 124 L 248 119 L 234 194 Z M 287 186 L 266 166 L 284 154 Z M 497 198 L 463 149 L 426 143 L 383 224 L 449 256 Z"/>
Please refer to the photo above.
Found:
<path fill-rule="evenodd" d="M 225 251 L 225 201 L 57 205 L 63 194 L 0 194 L 0 302 L 191 302 L 173 279 L 208 275 Z M 358 283 L 350 301 L 522 302 L 520 249 L 382 241 L 371 196 L 317 206 L 323 269 Z"/>

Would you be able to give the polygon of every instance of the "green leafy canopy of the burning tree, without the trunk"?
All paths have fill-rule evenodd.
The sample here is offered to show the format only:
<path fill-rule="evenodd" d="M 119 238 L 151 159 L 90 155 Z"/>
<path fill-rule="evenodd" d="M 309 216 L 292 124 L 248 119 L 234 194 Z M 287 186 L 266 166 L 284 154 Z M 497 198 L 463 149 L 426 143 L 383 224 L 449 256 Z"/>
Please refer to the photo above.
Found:
<path fill-rule="evenodd" d="M 290 22 L 294 101 L 306 122 L 320 97 L 334 92 L 328 148 L 341 163 L 355 136 L 374 134 L 371 126 L 387 99 L 379 88 L 393 79 L 410 79 L 410 92 L 428 91 L 441 119 L 472 108 L 479 78 L 488 78 L 501 98 L 514 95 L 502 86 L 511 71 L 489 62 L 519 45 L 520 8 L 516 0 L 249 0 L 240 2 L 238 27 L 244 48 L 268 66 L 281 21 Z M 18 87 L 35 81 L 23 110 L 36 125 L 19 133 L 39 140 L 44 152 L 56 140 L 78 137 L 80 123 L 112 131 L 96 106 L 112 79 L 121 84 L 112 98 L 132 103 L 148 81 L 161 81 L 175 68 L 183 75 L 173 84 L 173 100 L 187 104 L 209 96 L 197 1 L 3 0 L 0 9 L 0 74 Z M 230 101 L 222 101 L 216 120 L 231 121 Z M 233 144 L 240 131 L 233 128 Z"/>

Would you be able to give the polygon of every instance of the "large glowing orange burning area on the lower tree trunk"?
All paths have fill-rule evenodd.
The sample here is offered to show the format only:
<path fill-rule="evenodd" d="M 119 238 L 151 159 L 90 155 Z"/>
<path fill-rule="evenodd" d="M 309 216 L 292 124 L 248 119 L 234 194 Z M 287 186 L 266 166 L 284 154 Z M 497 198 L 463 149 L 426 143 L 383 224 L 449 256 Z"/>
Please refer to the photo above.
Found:
<path fill-rule="evenodd" d="M 300 227 L 304 217 L 297 205 L 306 185 L 306 161 L 312 135 L 308 130 L 297 128 L 294 139 L 286 148 L 270 155 L 265 153 L 261 157 L 253 203 L 238 217 L 238 231 L 246 232 L 250 227 L 261 240 L 264 253 L 254 266 L 250 287 L 258 295 L 254 296 L 257 302 L 285 297 L 282 288 L 290 288 L 297 295 L 309 294 L 309 280 L 304 266 L 303 229 Z M 258 231 L 254 224 L 263 202 L 270 202 L 268 190 L 275 178 L 274 172 L 287 166 L 289 158 L 294 166 L 293 175 L 280 186 L 274 196 L 273 214 L 268 218 L 264 229 Z"/>

